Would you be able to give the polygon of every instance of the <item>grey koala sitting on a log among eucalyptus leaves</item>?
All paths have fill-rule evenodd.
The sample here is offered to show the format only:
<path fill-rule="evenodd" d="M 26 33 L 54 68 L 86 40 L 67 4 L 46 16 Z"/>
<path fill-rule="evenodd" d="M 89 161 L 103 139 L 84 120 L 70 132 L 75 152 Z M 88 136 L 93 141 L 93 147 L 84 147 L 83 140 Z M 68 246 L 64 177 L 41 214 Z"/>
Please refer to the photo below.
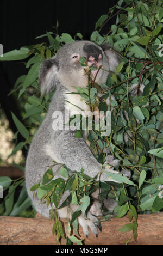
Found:
<path fill-rule="evenodd" d="M 84 138 L 75 137 L 76 130 L 53 129 L 57 118 L 54 113 L 65 115 L 73 111 L 90 111 L 89 105 L 77 93 L 76 87 L 87 88 L 88 75 L 85 66 L 80 64 L 79 58 L 85 57 L 87 66 L 102 66 L 101 69 L 93 70 L 92 76 L 96 77 L 96 83 L 99 85 L 105 83 L 110 72 L 115 72 L 120 63 L 118 54 L 108 44 L 97 45 L 91 41 L 75 41 L 66 44 L 58 50 L 54 57 L 43 60 L 39 70 L 39 84 L 41 94 L 49 93 L 55 90 L 52 101 L 48 108 L 45 120 L 39 127 L 29 148 L 26 161 L 26 187 L 29 197 L 32 199 L 34 208 L 42 216 L 49 218 L 49 207 L 45 203 L 39 204 L 38 199 L 33 200 L 33 192 L 30 188 L 38 182 L 45 174 L 49 166 L 55 174 L 54 179 L 59 178 L 56 166 L 53 161 L 65 164 L 72 172 L 80 172 L 95 177 L 103 168 L 102 164 L 93 156 L 87 146 Z M 73 94 L 72 94 L 73 93 Z M 63 126 L 65 128 L 65 124 Z M 109 155 L 108 164 L 112 167 L 120 164 L 120 161 Z M 118 173 L 113 169 L 110 172 Z M 99 178 L 99 177 L 98 177 Z M 103 172 L 101 181 L 110 181 Z M 112 180 L 111 180 L 112 181 Z M 61 198 L 61 202 L 67 198 L 67 191 Z M 76 211 L 77 205 L 70 204 L 72 212 Z M 82 226 L 84 234 L 88 236 L 89 227 L 93 234 L 98 235 L 97 227 L 101 229 L 95 213 L 99 212 L 95 204 L 87 211 L 86 216 L 82 214 L 78 217 L 78 222 Z M 58 211 L 60 218 L 67 217 L 67 208 L 61 208 Z M 71 213 L 68 213 L 71 218 Z"/>

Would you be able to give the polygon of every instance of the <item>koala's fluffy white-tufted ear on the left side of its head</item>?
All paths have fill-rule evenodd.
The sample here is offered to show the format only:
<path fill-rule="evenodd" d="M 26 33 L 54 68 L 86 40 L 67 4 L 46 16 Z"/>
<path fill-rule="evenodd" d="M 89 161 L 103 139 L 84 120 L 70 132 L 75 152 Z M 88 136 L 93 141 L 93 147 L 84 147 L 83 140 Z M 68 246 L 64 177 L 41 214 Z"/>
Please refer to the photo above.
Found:
<path fill-rule="evenodd" d="M 41 95 L 44 93 L 48 94 L 55 88 L 58 69 L 59 63 L 55 57 L 45 59 L 41 63 L 39 69 L 39 86 L 41 89 Z"/>

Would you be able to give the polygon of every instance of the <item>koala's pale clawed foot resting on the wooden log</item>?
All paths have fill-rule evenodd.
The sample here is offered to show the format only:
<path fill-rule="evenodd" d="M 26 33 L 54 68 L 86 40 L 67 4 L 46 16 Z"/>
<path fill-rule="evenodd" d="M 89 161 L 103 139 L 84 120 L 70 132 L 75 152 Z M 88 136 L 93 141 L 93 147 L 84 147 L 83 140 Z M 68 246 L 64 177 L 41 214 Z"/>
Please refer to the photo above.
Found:
<path fill-rule="evenodd" d="M 87 213 L 87 219 L 85 219 L 83 215 L 80 215 L 78 217 L 78 221 L 79 224 L 82 226 L 83 233 L 86 235 L 86 237 L 88 237 L 89 235 L 89 227 L 92 233 L 96 235 L 96 237 L 98 237 L 97 227 L 101 231 L 101 224 L 99 223 L 98 219 L 91 214 L 90 211 Z"/>

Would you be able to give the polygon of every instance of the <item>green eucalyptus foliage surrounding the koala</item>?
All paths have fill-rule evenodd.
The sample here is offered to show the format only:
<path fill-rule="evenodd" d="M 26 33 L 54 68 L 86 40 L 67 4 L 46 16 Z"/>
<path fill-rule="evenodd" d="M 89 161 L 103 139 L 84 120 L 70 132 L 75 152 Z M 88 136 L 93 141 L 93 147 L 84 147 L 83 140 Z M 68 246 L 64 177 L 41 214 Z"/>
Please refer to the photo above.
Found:
<path fill-rule="evenodd" d="M 115 13 L 114 10 L 116 10 Z M 117 15 L 116 24 L 108 29 L 106 35 L 101 35 L 102 28 L 115 15 Z M 104 163 L 105 149 L 109 148 L 111 154 L 121 160 L 117 170 L 130 170 L 131 178 L 129 180 L 121 174 L 109 174 L 109 177 L 122 183 L 115 185 L 114 182 L 106 182 L 107 184 L 104 184 L 97 182 L 96 177 L 92 179 L 86 176 L 84 170 L 69 176 L 69 170 L 61 166 L 59 167 L 60 175 L 64 179 L 55 180 L 52 170 L 48 169 L 42 180 L 38 181 L 32 190 L 37 190 L 37 197 L 40 200 L 46 200 L 47 206 L 54 203 L 55 210 L 50 212 L 52 219 L 55 220 L 53 234 L 57 231 L 58 241 L 60 236 L 64 237 L 64 233 L 57 218 L 56 209 L 68 206 L 71 202 L 79 205 L 78 210 L 72 214 L 72 220 L 67 222 L 67 244 L 70 242 L 80 244 L 82 241 L 79 238 L 70 235 L 70 224 L 73 225 L 79 237 L 77 217 L 81 212 L 85 213 L 90 204 L 90 194 L 97 187 L 102 189 L 101 200 L 109 196 L 118 202 L 118 206 L 114 209 L 117 217 L 128 215 L 130 223 L 124 225 L 120 231 L 133 230 L 135 240 L 137 214 L 150 214 L 163 209 L 162 23 L 161 0 L 143 2 L 120 0 L 115 7 L 110 8 L 108 14 L 102 15 L 96 22 L 95 31 L 90 40 L 97 44 L 108 42 L 114 46 L 120 52 L 122 62 L 117 66 L 116 73 L 108 77 L 106 84 L 101 84 L 99 87 L 96 81 L 93 81 L 87 89 L 78 88 L 78 93 L 92 109 L 98 105 L 99 111 L 111 110 L 110 136 L 101 136 L 101 131 L 93 130 L 88 131 L 87 139 L 99 162 Z M 26 127 L 14 114 L 12 115 L 18 132 L 25 139 L 15 147 L 12 154 L 23 147 L 28 148 L 34 133 L 46 116 L 52 95 L 41 99 L 38 97 L 40 90 L 37 87 L 37 75 L 40 62 L 53 56 L 65 43 L 74 41 L 68 34 L 59 36 L 54 32 L 47 32 L 39 38 L 45 36 L 48 38 L 49 45 L 42 43 L 26 46 L 0 57 L 0 60 L 27 59 L 26 68 L 29 69 L 27 75 L 18 78 L 12 90 L 12 93 L 18 92 L 18 99 L 24 97 L 26 102 L 23 106 L 23 120 Z M 74 39 L 76 38 L 82 39 L 82 35 L 77 33 Z M 84 59 L 81 59 L 81 64 L 85 65 Z M 131 95 L 131 91 L 135 92 L 133 87 L 131 88 L 133 84 L 136 93 Z M 145 87 L 141 92 L 142 84 Z M 114 100 L 111 100 L 112 95 L 115 97 Z M 109 105 L 106 104 L 108 98 Z M 82 133 L 77 131 L 76 137 L 81 136 Z M 66 181 L 65 178 L 67 178 Z M 12 192 L 10 191 L 12 186 L 14 184 L 7 186 L 9 195 Z M 62 193 L 68 189 L 71 191 L 70 196 L 62 205 L 59 205 Z M 9 198 L 7 196 L 4 200 L 5 207 Z M 23 197 L 21 203 L 25 202 L 24 200 L 27 200 L 27 197 L 25 199 Z M 11 214 L 13 210 L 8 209 L 3 214 Z"/>

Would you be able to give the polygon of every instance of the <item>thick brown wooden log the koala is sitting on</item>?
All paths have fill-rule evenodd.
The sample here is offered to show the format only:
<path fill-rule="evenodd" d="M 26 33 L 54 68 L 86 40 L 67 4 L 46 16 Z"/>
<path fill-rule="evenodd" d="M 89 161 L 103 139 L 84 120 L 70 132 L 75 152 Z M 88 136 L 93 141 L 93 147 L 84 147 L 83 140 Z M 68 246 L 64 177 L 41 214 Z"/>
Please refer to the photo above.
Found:
<path fill-rule="evenodd" d="M 66 230 L 66 221 L 61 220 Z M 163 244 L 163 212 L 151 215 L 139 215 L 137 242 L 132 239 L 130 245 L 162 245 Z M 102 233 L 96 238 L 90 231 L 89 237 L 79 234 L 85 245 L 124 245 L 132 236 L 132 231 L 122 233 L 118 231 L 122 225 L 128 223 L 128 217 L 111 218 L 109 222 L 102 222 Z M 56 237 L 52 235 L 53 222 L 47 218 L 21 218 L 0 216 L 0 245 L 58 245 Z M 61 239 L 65 245 L 66 239 Z"/>

